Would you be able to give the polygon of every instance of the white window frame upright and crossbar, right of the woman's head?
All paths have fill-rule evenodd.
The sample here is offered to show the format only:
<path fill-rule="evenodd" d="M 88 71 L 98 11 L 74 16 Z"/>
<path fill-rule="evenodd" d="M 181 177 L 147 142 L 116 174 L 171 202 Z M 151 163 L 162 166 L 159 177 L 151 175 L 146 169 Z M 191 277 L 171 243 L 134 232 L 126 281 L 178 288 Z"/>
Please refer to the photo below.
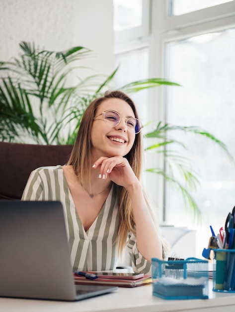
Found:
<path fill-rule="evenodd" d="M 146 18 L 148 19 L 147 31 L 143 31 L 145 27 L 142 30 L 135 29 L 134 34 L 128 30 L 121 31 L 116 37 L 114 50 L 115 54 L 119 54 L 143 46 L 149 47 L 149 77 L 167 79 L 167 43 L 235 27 L 235 0 L 182 15 L 169 15 L 170 0 L 143 0 L 143 3 L 146 5 L 145 9 L 149 11 L 149 15 L 144 17 L 145 23 Z M 124 36 L 123 39 L 121 36 Z M 147 115 L 150 121 L 153 120 L 153 116 L 156 123 L 166 120 L 166 88 L 170 87 L 153 88 L 148 91 Z M 150 156 L 150 160 L 148 157 L 147 155 L 147 162 L 150 161 L 152 165 L 153 156 Z M 155 166 L 164 166 L 163 157 L 157 157 Z M 157 203 L 159 220 L 163 221 L 164 179 L 157 174 L 149 173 L 146 184 L 151 197 Z"/>

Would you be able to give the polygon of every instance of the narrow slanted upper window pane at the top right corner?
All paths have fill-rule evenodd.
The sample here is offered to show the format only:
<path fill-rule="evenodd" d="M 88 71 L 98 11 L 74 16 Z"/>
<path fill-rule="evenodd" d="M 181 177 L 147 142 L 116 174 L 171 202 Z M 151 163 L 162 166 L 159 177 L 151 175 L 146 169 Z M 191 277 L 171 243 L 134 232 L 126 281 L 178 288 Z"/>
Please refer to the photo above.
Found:
<path fill-rule="evenodd" d="M 233 0 L 171 0 L 171 15 L 181 15 Z"/>

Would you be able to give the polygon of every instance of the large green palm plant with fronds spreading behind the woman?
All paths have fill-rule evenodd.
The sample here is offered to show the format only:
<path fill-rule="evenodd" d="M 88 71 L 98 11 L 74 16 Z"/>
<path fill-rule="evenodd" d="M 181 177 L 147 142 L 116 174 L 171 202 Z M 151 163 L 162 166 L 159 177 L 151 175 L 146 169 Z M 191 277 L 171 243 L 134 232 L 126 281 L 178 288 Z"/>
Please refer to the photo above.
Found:
<path fill-rule="evenodd" d="M 37 145 L 73 145 L 81 117 L 87 105 L 105 90 L 111 88 L 112 80 L 118 70 L 108 77 L 91 75 L 78 78 L 79 61 L 90 51 L 81 46 L 66 51 L 41 50 L 34 43 L 20 42 L 18 57 L 0 62 L 0 141 L 32 143 Z M 146 88 L 161 85 L 178 86 L 177 83 L 161 78 L 135 81 L 120 87 L 131 94 Z M 148 168 L 173 183 L 183 195 L 185 205 L 200 215 L 197 203 L 189 189 L 198 183 L 196 175 L 185 165 L 182 155 L 175 155 L 166 149 L 172 143 L 181 144 L 169 138 L 172 131 L 194 133 L 212 140 L 226 151 L 226 146 L 207 131 L 197 127 L 179 127 L 160 122 L 156 129 L 145 135 L 156 143 L 146 151 L 163 155 L 164 168 Z M 171 170 L 174 162 L 181 171 L 186 186 L 180 183 Z"/>

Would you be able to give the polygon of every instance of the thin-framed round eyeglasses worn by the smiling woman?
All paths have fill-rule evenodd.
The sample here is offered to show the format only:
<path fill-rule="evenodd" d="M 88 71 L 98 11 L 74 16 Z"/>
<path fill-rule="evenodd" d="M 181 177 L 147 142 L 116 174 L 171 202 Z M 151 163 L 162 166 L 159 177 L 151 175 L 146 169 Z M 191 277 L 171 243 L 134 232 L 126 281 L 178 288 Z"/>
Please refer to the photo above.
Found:
<path fill-rule="evenodd" d="M 117 112 L 114 112 L 114 111 L 106 111 L 106 112 L 99 114 L 98 116 L 101 116 L 101 115 L 104 115 L 104 122 L 106 125 L 108 125 L 110 127 L 116 127 L 120 123 L 121 118 L 124 118 L 124 119 L 126 119 L 127 130 L 130 133 L 137 134 L 143 128 L 143 125 L 141 124 L 141 122 L 137 118 L 121 117 Z M 96 117 L 98 117 L 98 116 L 96 116 Z M 95 119 L 96 117 L 94 117 L 93 119 Z"/>

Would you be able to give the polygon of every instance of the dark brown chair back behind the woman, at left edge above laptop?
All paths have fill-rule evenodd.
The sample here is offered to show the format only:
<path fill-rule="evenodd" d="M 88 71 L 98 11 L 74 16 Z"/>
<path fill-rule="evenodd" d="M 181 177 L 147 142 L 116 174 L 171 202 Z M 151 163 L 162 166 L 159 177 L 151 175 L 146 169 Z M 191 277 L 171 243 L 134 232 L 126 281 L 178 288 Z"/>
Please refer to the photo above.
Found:
<path fill-rule="evenodd" d="M 0 199 L 21 199 L 32 170 L 65 164 L 72 145 L 33 145 L 0 142 Z"/>

